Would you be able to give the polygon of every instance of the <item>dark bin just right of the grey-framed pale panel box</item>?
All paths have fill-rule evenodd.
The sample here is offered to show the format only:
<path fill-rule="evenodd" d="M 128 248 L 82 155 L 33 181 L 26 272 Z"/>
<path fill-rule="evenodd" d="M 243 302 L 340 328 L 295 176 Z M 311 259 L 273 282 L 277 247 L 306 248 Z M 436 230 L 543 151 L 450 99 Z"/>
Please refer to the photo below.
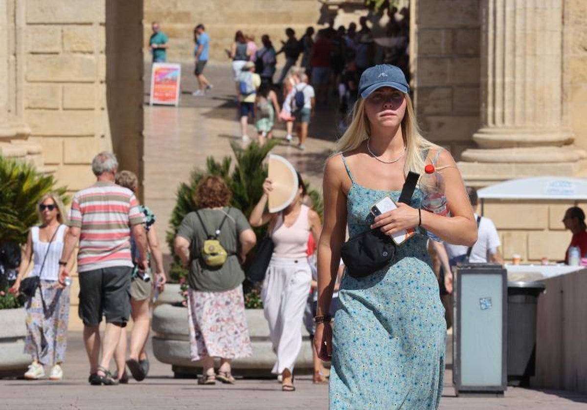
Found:
<path fill-rule="evenodd" d="M 529 387 L 536 362 L 536 316 L 542 282 L 508 282 L 508 385 Z"/>

